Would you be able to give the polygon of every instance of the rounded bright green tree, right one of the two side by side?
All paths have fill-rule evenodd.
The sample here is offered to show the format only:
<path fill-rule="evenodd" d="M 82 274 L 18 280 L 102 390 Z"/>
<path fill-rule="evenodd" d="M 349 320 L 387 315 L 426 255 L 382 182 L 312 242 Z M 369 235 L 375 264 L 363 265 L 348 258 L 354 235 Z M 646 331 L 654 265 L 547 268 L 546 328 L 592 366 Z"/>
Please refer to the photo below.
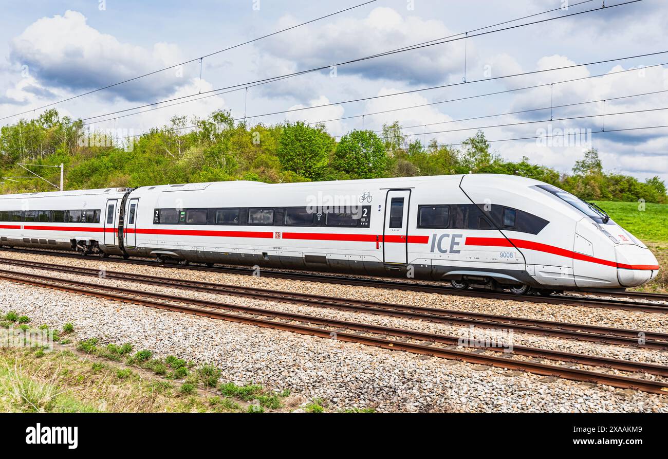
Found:
<path fill-rule="evenodd" d="M 341 137 L 333 163 L 351 178 L 378 178 L 385 174 L 387 153 L 373 131 L 354 130 Z"/>

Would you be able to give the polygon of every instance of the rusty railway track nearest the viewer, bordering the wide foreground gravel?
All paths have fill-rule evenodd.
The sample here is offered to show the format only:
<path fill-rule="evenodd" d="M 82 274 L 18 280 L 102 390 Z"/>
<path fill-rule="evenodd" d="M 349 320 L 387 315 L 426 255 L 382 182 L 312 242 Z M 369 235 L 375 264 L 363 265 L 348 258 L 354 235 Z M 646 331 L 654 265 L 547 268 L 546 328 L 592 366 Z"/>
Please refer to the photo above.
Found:
<path fill-rule="evenodd" d="M 470 363 L 529 371 L 539 375 L 558 376 L 575 381 L 589 381 L 617 388 L 633 388 L 635 390 L 668 395 L 668 384 L 664 381 L 609 372 L 611 371 L 609 369 L 614 369 L 635 373 L 636 375 L 642 373 L 643 375 L 665 377 L 668 376 L 668 367 L 664 365 L 611 359 L 594 355 L 580 355 L 525 346 L 513 346 L 512 355 L 504 352 L 506 350 L 505 347 L 498 345 L 478 347 L 476 351 L 462 351 L 457 349 L 457 346 L 460 345 L 460 339 L 448 335 L 340 321 L 311 315 L 285 313 L 283 311 L 273 311 L 257 307 L 230 305 L 164 293 L 137 291 L 124 287 L 91 285 L 90 283 L 70 279 L 16 271 L 2 270 L 0 272 L 0 279 L 25 285 L 122 301 L 124 303 L 134 303 L 158 309 L 200 315 L 213 319 L 248 323 L 260 327 L 271 327 L 304 335 L 335 338 L 340 341 L 361 343 L 385 349 L 434 355 L 446 359 L 458 359 Z M 313 325 L 317 325 L 317 327 Z M 397 339 L 389 339 L 389 337 Z M 520 359 L 516 357 L 517 355 L 524 358 L 532 357 L 532 359 Z M 542 359 L 564 362 L 564 364 L 548 365 L 542 363 Z M 572 363 L 602 368 L 603 371 L 572 367 Z"/>

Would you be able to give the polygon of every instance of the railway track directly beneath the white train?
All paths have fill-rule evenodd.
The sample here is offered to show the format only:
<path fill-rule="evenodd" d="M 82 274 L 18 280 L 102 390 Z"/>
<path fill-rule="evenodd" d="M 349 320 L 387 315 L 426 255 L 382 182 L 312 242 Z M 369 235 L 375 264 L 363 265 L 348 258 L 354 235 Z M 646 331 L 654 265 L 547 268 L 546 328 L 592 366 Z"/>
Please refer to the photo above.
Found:
<path fill-rule="evenodd" d="M 103 259 L 96 256 L 81 256 L 76 253 L 69 253 L 63 251 L 45 251 L 39 249 L 7 249 L 4 251 L 12 251 L 16 253 L 33 253 L 37 255 L 53 255 L 57 257 L 67 257 L 85 260 L 96 261 L 110 261 L 112 263 L 126 263 L 131 265 L 145 265 L 145 266 L 160 266 L 169 269 L 190 269 L 194 271 L 209 271 L 213 273 L 229 273 L 236 275 L 257 275 L 253 268 L 248 267 L 230 267 L 230 266 L 216 266 L 205 267 L 201 265 L 178 265 L 176 263 L 158 263 L 153 259 L 122 259 L 122 258 L 108 258 Z M 275 277 L 278 279 L 291 279 L 297 281 L 307 282 L 321 282 L 321 283 L 337 283 L 343 285 L 358 285 L 360 287 L 375 287 L 382 289 L 398 289 L 402 291 L 419 291 L 423 293 L 438 293 L 442 295 L 455 295 L 464 297 L 478 297 L 490 299 L 505 299 L 512 301 L 526 301 L 530 303 L 548 303 L 554 305 L 572 305 L 585 307 L 603 307 L 607 309 L 624 309 L 627 311 L 641 311 L 651 313 L 668 313 L 668 304 L 661 303 L 646 303 L 641 301 L 631 300 L 615 300 L 604 299 L 599 297 L 587 298 L 586 296 L 569 296 L 569 295 L 550 295 L 550 296 L 535 296 L 535 295 L 512 295 L 510 293 L 492 292 L 492 291 L 459 291 L 446 285 L 436 285 L 424 282 L 409 282 L 397 281 L 391 279 L 374 279 L 369 277 L 350 277 L 346 275 L 331 275 L 321 273 L 303 273 L 295 271 L 284 271 L 276 269 L 262 269 L 261 275 L 263 277 Z M 605 295 L 608 295 L 607 293 Z M 660 294 L 658 294 L 660 295 Z"/>

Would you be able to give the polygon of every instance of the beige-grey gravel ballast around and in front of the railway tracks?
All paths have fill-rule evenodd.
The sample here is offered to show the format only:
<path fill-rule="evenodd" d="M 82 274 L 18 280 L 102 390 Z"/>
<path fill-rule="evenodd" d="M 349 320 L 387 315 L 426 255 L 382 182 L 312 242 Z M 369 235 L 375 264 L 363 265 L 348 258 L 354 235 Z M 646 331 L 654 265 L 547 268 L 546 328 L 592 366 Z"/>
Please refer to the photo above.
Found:
<path fill-rule="evenodd" d="M 63 263 L 62 259 L 41 255 L 37 257 L 42 258 L 41 261 L 48 261 L 49 263 Z M 27 259 L 28 257 L 23 255 L 21 258 Z M 88 267 L 102 265 L 108 270 L 141 272 L 170 277 L 187 276 L 183 278 L 218 283 L 242 285 L 243 281 L 246 281 L 254 283 L 253 285 L 257 287 L 289 291 L 299 291 L 292 288 L 293 286 L 297 287 L 297 284 L 309 284 L 309 293 L 326 294 L 320 288 L 315 292 L 315 287 L 332 288 L 332 286 L 325 284 L 296 283 L 283 279 L 212 275 L 212 273 L 156 269 L 136 265 L 116 264 L 112 267 L 111 263 L 104 262 L 92 266 L 92 262 L 83 260 L 73 260 L 71 262 L 69 263 L 68 260 L 68 264 L 71 265 L 86 263 L 85 266 Z M 20 271 L 17 267 L 6 266 L 5 268 Z M 62 273 L 57 273 L 55 276 L 66 277 Z M 203 277 L 207 279 L 203 279 Z M 212 277 L 216 277 L 216 279 L 212 279 Z M 226 279 L 219 279 L 218 277 Z M 90 278 L 88 279 L 90 281 Z M 271 281 L 271 283 L 279 281 L 281 285 L 278 283 L 276 285 L 266 285 L 267 281 Z M 118 282 L 114 282 L 118 284 Z M 259 283 L 265 285 L 259 285 Z M 147 287 L 147 285 L 142 285 L 142 289 L 148 290 Z M 358 287 L 334 287 L 345 289 L 344 296 L 347 297 L 353 297 L 351 290 L 358 289 Z M 397 293 L 395 291 L 388 292 L 387 295 Z M 195 293 L 180 291 L 180 294 L 194 296 Z M 379 299 L 378 295 L 375 295 L 375 299 Z M 405 295 L 405 292 L 403 295 Z M 410 295 L 413 295 L 413 293 L 410 293 Z M 415 297 L 421 297 L 422 295 L 428 294 L 417 294 Z M 247 300 L 239 298 L 215 296 L 218 301 L 230 303 L 232 301 L 243 301 L 240 304 L 251 304 Z M 438 295 L 438 297 L 440 297 L 441 303 L 444 303 L 444 295 Z M 75 323 L 77 339 L 99 337 L 105 342 L 131 342 L 138 349 L 152 349 L 160 356 L 174 354 L 196 363 L 214 363 L 222 370 L 222 380 L 224 381 L 234 381 L 237 384 L 253 381 L 277 390 L 289 389 L 305 398 L 321 397 L 333 405 L 333 410 L 356 406 L 359 408 L 373 407 L 378 411 L 409 412 L 668 411 L 668 397 L 656 394 L 622 391 L 608 386 L 592 386 L 565 379 L 544 378 L 529 373 L 413 355 L 401 351 L 385 351 L 355 343 L 343 343 L 332 339 L 263 329 L 253 325 L 193 317 L 4 281 L 0 283 L 0 298 L 5 310 L 3 312 L 15 309 L 31 317 L 33 323 L 47 323 L 55 327 L 62 327 L 65 322 L 72 321 Z M 459 299 L 460 297 L 457 298 L 457 300 Z M 467 298 L 466 300 L 470 299 Z M 407 303 L 407 301 L 399 301 L 397 298 L 393 298 L 391 301 Z M 258 305 L 260 303 L 267 307 L 267 302 L 261 301 Z M 503 301 L 499 303 L 515 302 Z M 412 304 L 415 304 L 415 302 Z M 520 305 L 533 306 L 530 303 L 520 303 Z M 549 306 L 554 308 L 553 305 Z M 315 309 L 285 303 L 271 304 L 272 309 L 278 309 L 279 307 L 284 307 L 290 311 L 305 308 L 303 309 L 305 313 L 312 314 L 314 312 L 307 312 L 307 309 Z M 458 309 L 450 303 L 444 307 Z M 586 309 L 591 312 L 591 308 L 578 309 Z M 325 312 L 339 313 L 317 308 L 317 315 L 325 315 Z M 578 311 L 578 314 L 585 312 Z M 629 311 L 623 312 L 629 314 Z M 498 314 L 500 312 L 495 311 L 494 313 Z M 526 314 L 515 313 L 514 315 L 526 317 Z M 645 318 L 647 315 L 649 314 L 641 315 L 642 318 L 639 317 L 639 322 L 647 321 L 645 325 L 649 325 L 649 323 L 655 321 L 655 319 Z M 402 323 L 411 322 L 375 315 L 365 315 L 364 319 L 359 318 L 359 315 L 356 316 L 357 321 L 371 321 L 371 319 L 374 319 L 376 321 L 401 320 Z M 660 321 L 654 323 L 660 330 L 658 325 Z M 444 333 L 444 329 L 440 328 L 444 327 L 442 324 L 420 322 L 420 329 L 424 329 L 423 327 L 426 325 L 436 325 L 439 327 L 438 331 Z M 394 326 L 394 324 L 392 323 L 391 326 Z M 617 326 L 620 325 L 617 324 Z M 628 324 L 625 327 L 635 328 Z M 544 339 L 544 337 L 539 338 Z M 608 347 L 614 348 L 613 346 Z M 623 347 L 619 347 L 619 349 L 626 350 Z M 631 350 L 639 351 L 639 349 Z M 643 352 L 645 351 L 643 350 Z M 653 354 L 647 352 L 646 355 Z M 657 361 L 663 363 L 663 355 L 657 353 L 655 357 Z"/>

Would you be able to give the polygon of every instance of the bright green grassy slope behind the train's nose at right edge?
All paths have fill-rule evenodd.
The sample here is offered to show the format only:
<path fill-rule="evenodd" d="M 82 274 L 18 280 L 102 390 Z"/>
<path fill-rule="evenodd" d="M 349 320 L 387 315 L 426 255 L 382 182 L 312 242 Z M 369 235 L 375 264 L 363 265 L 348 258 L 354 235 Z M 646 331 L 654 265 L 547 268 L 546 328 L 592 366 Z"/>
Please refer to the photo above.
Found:
<path fill-rule="evenodd" d="M 668 242 L 668 204 L 596 201 L 625 230 L 643 242 Z"/>

